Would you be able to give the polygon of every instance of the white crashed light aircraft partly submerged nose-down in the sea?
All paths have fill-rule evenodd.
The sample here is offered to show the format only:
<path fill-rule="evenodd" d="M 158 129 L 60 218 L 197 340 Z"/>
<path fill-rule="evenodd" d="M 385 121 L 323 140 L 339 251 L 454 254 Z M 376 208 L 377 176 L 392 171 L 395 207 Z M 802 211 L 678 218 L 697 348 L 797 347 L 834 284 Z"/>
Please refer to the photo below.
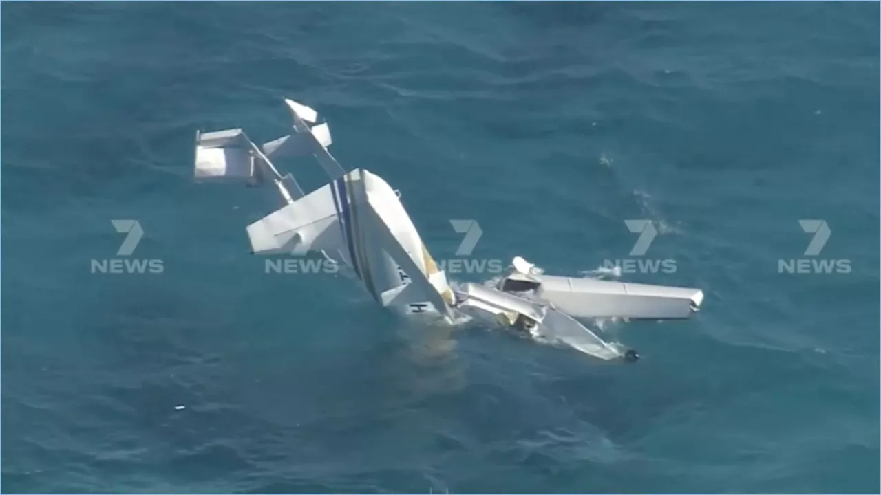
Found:
<path fill-rule="evenodd" d="M 285 100 L 291 132 L 256 145 L 241 129 L 196 133 L 196 181 L 277 188 L 283 206 L 248 225 L 256 255 L 320 253 L 351 270 L 384 307 L 403 314 L 489 318 L 533 336 L 580 336 L 597 358 L 639 358 L 603 341 L 575 318 L 680 319 L 698 311 L 699 289 L 544 275 L 521 257 L 494 286 L 452 287 L 419 237 L 398 192 L 363 168 L 346 171 L 329 153 L 330 130 L 310 107 Z M 273 159 L 312 155 L 329 183 L 305 194 Z"/>

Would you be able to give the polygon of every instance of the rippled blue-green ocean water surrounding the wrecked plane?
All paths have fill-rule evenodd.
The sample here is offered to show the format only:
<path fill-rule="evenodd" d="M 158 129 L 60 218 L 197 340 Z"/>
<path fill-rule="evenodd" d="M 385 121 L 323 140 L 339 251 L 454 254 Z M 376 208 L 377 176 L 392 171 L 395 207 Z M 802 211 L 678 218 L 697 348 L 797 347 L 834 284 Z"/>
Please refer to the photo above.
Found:
<path fill-rule="evenodd" d="M 877 3 L 0 18 L 4 492 L 881 490 Z M 470 218 L 473 257 L 574 275 L 633 258 L 624 220 L 650 219 L 643 258 L 676 270 L 621 278 L 700 287 L 702 311 L 589 322 L 640 350 L 624 366 L 267 274 L 244 226 L 274 199 L 194 184 L 193 137 L 278 137 L 285 97 L 400 189 L 436 258 Z M 91 272 L 113 219 L 161 273 Z M 799 219 L 830 229 L 818 255 Z"/>

